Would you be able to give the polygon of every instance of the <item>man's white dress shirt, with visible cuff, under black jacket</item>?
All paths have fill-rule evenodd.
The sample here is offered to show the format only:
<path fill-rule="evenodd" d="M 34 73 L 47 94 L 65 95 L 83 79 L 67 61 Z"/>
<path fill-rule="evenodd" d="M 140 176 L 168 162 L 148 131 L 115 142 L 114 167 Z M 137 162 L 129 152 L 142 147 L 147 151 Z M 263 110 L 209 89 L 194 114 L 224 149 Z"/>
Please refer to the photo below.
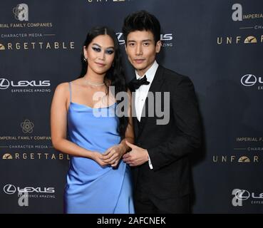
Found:
<path fill-rule="evenodd" d="M 153 82 L 153 78 L 155 77 L 155 73 L 157 71 L 158 66 L 159 66 L 158 63 L 154 61 L 153 65 L 145 73 L 147 81 L 150 83 L 148 85 L 142 85 L 140 86 L 140 88 L 135 90 L 135 112 L 136 112 L 136 117 L 139 122 L 142 116 L 143 106 L 145 104 L 145 100 L 147 98 L 148 91 L 150 89 L 150 85 Z M 135 71 L 135 74 L 136 74 L 137 79 L 144 77 L 144 76 L 139 76 L 137 71 Z M 153 165 L 152 165 L 152 162 L 150 162 L 150 157 L 148 158 L 149 158 L 148 160 L 149 167 L 151 170 L 153 170 Z"/>

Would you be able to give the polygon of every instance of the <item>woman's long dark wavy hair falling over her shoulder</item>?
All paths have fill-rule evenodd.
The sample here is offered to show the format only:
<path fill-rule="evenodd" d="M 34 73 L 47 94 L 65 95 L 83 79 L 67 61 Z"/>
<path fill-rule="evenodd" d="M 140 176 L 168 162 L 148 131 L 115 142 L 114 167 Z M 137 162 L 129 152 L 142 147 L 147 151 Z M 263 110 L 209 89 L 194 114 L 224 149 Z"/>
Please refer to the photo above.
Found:
<path fill-rule="evenodd" d="M 115 56 L 112 66 L 105 74 L 104 83 L 107 86 L 107 93 L 109 90 L 109 86 L 115 87 L 115 97 L 116 97 L 116 95 L 119 92 L 127 92 L 128 86 L 123 71 L 120 46 L 119 46 L 118 38 L 115 35 L 115 32 L 112 29 L 108 28 L 107 26 L 93 27 L 87 34 L 86 41 L 84 42 L 84 46 L 88 48 L 88 45 L 91 43 L 91 41 L 93 41 L 93 38 L 96 38 L 97 36 L 100 35 L 108 35 L 110 36 L 110 38 L 113 39 Z M 84 61 L 83 54 L 81 56 L 81 62 L 82 62 L 82 69 L 81 69 L 81 76 L 79 78 L 85 76 L 88 67 L 88 61 Z M 108 84 L 108 81 L 110 81 L 110 85 Z M 119 104 L 121 101 L 122 100 L 117 100 L 117 103 Z M 125 138 L 125 131 L 128 126 L 128 115 L 123 115 L 122 117 L 118 117 L 118 119 L 119 119 L 118 133 L 120 134 L 120 138 L 123 139 Z"/>

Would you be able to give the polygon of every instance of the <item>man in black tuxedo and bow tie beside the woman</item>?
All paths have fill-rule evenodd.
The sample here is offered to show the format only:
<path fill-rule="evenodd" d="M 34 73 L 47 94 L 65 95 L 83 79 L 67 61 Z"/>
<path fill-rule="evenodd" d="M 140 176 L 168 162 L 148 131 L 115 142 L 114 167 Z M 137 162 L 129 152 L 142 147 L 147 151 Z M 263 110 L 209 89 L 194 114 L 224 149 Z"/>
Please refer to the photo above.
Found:
<path fill-rule="evenodd" d="M 123 155 L 133 167 L 135 212 L 189 213 L 188 155 L 201 144 L 194 86 L 186 76 L 155 61 L 161 48 L 160 23 L 155 16 L 147 11 L 130 14 L 123 24 L 123 36 L 135 68 L 129 84 L 135 92 L 135 145 L 126 142 L 131 150 Z M 156 100 L 156 92 L 161 92 L 162 103 Z M 164 110 L 163 120 L 158 108 Z"/>

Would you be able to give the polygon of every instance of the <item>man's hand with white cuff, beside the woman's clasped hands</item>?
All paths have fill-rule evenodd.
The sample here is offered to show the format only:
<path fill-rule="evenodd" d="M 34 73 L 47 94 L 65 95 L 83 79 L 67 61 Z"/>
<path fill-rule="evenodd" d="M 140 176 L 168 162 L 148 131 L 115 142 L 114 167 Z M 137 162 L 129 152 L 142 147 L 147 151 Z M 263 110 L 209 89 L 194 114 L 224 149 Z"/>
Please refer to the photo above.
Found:
<path fill-rule="evenodd" d="M 133 145 L 128 141 L 125 142 L 126 145 L 128 145 L 128 147 L 130 147 L 132 150 L 123 155 L 123 162 L 126 162 L 130 166 L 138 166 L 148 162 L 149 159 L 147 150 L 138 147 L 137 145 Z"/>

